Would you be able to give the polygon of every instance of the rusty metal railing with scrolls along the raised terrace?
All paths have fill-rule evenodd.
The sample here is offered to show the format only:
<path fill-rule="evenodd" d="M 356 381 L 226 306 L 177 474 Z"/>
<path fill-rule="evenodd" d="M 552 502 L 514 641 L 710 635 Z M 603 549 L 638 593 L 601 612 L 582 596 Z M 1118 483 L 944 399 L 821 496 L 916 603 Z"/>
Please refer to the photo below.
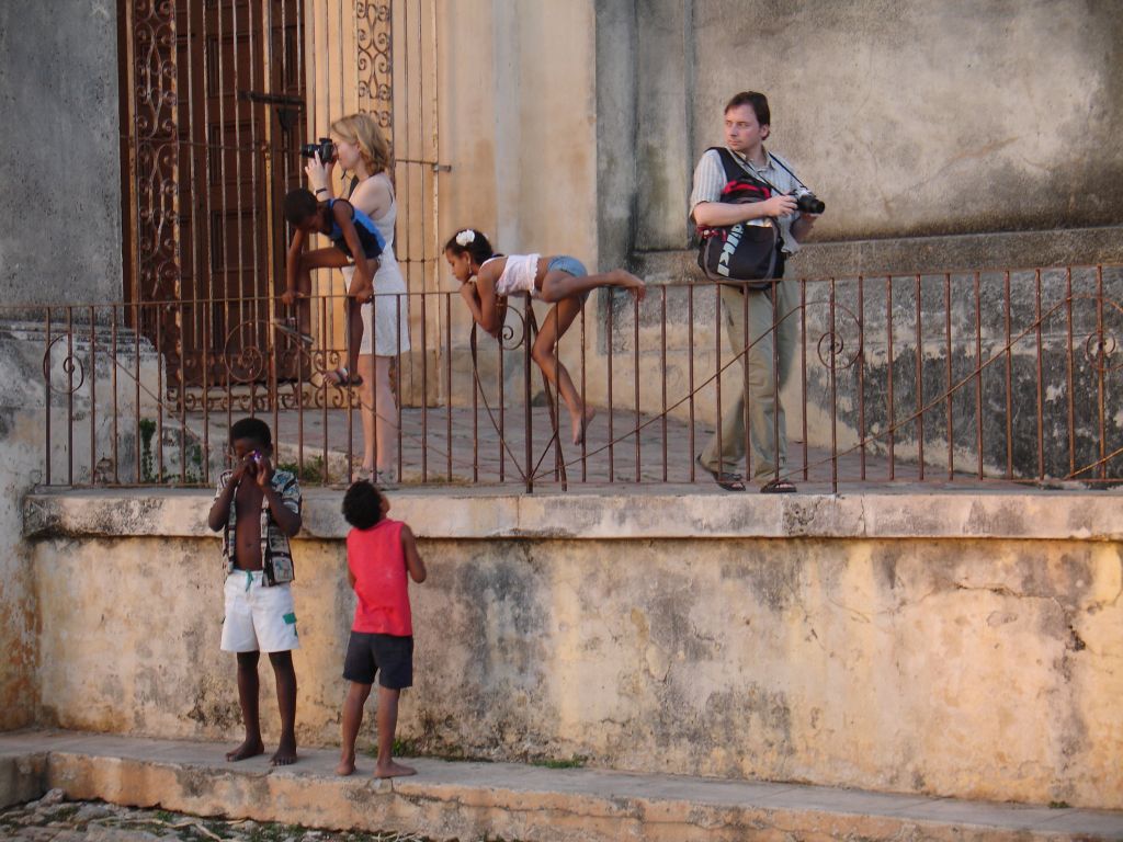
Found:
<path fill-rule="evenodd" d="M 1123 267 L 783 283 L 798 303 L 779 390 L 792 445 L 777 476 L 830 492 L 1123 478 Z M 338 485 L 362 459 L 364 412 L 396 428 L 404 484 L 711 484 L 695 459 L 749 377 L 745 349 L 729 347 L 720 289 L 590 299 L 558 346 L 596 409 L 577 445 L 531 356 L 549 318 L 541 303 L 512 300 L 495 341 L 456 293 L 394 296 L 414 327 L 392 406 L 325 377 L 346 358 L 341 298 L 313 300 L 311 346 L 277 329 L 266 300 L 21 306 L 0 318 L 19 354 L 42 360 L 46 485 L 210 485 L 230 423 L 246 414 L 270 423 L 279 464 L 305 484 Z M 745 317 L 767 304 L 741 301 Z M 200 306 L 241 320 L 208 332 L 221 322 Z M 199 345 L 176 351 L 184 333 L 163 331 L 188 323 L 200 326 L 186 333 Z"/>

